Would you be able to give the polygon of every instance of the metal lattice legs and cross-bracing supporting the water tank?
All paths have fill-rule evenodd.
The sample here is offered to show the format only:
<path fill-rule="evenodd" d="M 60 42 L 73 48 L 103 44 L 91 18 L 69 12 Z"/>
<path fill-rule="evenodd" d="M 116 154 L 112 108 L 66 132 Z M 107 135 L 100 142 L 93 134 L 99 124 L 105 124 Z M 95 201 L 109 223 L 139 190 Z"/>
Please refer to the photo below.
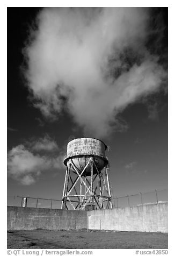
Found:
<path fill-rule="evenodd" d="M 89 166 L 91 175 L 83 175 Z M 94 175 L 93 167 L 97 170 Z M 71 171 L 72 168 L 76 175 Z M 98 170 L 93 157 L 91 157 L 82 172 L 79 173 L 70 158 L 65 173 L 61 209 L 85 210 L 86 205 L 93 205 L 94 209 L 112 208 L 108 167 L 106 165 L 102 170 Z"/>

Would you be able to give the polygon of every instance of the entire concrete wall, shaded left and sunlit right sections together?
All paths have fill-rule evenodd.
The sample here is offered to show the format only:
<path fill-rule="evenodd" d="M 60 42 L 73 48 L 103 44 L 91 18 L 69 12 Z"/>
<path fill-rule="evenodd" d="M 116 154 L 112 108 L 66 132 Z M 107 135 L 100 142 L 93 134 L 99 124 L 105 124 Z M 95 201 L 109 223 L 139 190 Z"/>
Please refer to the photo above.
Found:
<path fill-rule="evenodd" d="M 96 211 L 8 207 L 8 230 L 87 228 L 167 232 L 167 203 Z"/>

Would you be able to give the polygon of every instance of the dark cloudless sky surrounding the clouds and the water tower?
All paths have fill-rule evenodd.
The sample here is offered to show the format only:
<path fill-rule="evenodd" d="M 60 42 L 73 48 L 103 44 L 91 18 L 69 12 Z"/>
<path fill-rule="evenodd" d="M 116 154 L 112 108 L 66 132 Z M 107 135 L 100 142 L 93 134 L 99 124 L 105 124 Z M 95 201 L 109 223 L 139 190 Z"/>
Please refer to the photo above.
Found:
<path fill-rule="evenodd" d="M 63 111 L 59 119 L 49 122 L 34 108 L 23 76 L 22 50 L 28 38 L 28 26 L 40 8 L 8 8 L 8 152 L 33 138 L 49 136 L 56 141 L 61 153 L 70 138 L 84 137 L 81 128 Z M 150 52 L 160 57 L 167 69 L 167 8 L 151 9 L 150 26 L 159 20 L 163 32 L 148 39 Z M 158 30 L 159 31 L 159 30 Z M 113 132 L 105 137 L 110 146 L 110 180 L 114 196 L 135 194 L 167 188 L 167 94 L 152 93 L 144 101 L 129 104 L 120 113 L 128 126 L 125 132 Z M 76 129 L 75 129 L 76 127 Z M 60 153 L 60 151 L 59 151 Z M 58 154 L 59 154 L 58 153 Z M 45 170 L 32 184 L 25 186 L 20 179 L 8 175 L 8 195 L 57 198 L 62 196 L 65 168 Z M 9 202 L 12 203 L 10 197 Z M 14 202 L 13 202 L 14 203 Z"/>

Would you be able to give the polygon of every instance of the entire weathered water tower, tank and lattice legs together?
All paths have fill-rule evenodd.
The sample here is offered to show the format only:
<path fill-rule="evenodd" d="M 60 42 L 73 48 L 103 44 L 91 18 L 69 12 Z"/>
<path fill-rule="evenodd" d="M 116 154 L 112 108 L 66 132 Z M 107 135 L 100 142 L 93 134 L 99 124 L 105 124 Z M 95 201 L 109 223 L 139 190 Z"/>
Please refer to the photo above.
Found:
<path fill-rule="evenodd" d="M 112 208 L 106 149 L 103 141 L 94 138 L 79 138 L 68 143 L 61 209 Z"/>

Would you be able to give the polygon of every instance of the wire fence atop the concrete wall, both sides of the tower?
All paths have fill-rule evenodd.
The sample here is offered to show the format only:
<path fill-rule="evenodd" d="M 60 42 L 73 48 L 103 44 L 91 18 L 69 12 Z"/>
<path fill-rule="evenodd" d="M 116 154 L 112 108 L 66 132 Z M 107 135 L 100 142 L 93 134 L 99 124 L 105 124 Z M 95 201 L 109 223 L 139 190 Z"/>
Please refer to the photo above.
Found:
<path fill-rule="evenodd" d="M 112 198 L 113 208 L 133 207 L 145 204 L 157 204 L 168 201 L 168 190 L 154 190 L 146 193 Z M 62 200 L 28 196 L 8 196 L 9 206 L 61 209 Z"/>

